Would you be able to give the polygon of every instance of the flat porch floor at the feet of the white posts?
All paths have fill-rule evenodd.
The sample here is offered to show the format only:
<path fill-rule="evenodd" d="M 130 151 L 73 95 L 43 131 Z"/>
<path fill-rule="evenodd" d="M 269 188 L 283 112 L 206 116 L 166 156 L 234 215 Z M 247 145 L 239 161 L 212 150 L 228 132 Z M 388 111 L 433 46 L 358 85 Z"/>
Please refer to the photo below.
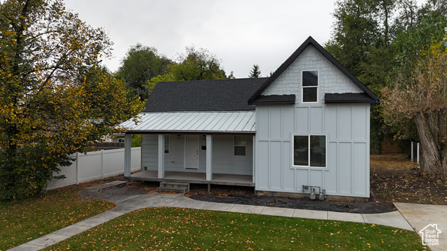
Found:
<path fill-rule="evenodd" d="M 126 176 L 129 181 L 166 181 L 213 185 L 242 185 L 254 187 L 253 176 L 237 174 L 212 174 L 212 180 L 206 180 L 206 174 L 196 172 L 165 172 L 165 178 L 158 178 L 157 171 L 141 171 Z"/>

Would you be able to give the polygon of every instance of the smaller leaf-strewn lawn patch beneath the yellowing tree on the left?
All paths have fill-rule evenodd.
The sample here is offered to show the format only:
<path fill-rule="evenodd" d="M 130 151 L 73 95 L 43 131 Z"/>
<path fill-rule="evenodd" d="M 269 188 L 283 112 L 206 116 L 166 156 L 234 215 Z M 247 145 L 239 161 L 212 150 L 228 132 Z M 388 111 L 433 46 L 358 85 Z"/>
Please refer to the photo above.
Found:
<path fill-rule="evenodd" d="M 115 204 L 78 195 L 89 183 L 71 185 L 31 198 L 0 205 L 0 250 L 8 250 L 52 231 L 114 208 Z"/>

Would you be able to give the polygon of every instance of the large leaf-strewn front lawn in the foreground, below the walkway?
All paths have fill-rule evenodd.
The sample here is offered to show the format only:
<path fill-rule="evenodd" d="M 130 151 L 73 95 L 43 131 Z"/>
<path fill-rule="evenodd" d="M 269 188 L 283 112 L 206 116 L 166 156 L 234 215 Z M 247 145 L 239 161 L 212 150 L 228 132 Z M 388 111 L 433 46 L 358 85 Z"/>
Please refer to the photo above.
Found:
<path fill-rule="evenodd" d="M 380 225 L 186 208 L 128 213 L 45 250 L 424 250 Z"/>

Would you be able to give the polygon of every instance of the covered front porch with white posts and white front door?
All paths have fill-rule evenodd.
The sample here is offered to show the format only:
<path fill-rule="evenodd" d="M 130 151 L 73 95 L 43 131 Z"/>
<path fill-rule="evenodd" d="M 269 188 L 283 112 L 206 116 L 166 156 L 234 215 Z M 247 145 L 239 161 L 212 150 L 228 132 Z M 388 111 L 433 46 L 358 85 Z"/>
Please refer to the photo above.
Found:
<path fill-rule="evenodd" d="M 124 178 L 129 181 L 255 187 L 253 134 L 142 135 L 141 172 L 129 167 L 131 135 L 125 135 Z"/>

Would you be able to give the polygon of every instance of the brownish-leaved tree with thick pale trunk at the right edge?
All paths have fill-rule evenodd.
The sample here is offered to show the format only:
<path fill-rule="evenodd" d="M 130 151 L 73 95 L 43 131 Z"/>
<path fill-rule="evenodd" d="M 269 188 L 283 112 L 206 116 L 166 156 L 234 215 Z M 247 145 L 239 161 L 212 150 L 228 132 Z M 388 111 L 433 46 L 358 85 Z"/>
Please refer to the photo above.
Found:
<path fill-rule="evenodd" d="M 447 180 L 447 36 L 423 50 L 411 77 L 400 75 L 383 91 L 388 123 L 413 120 L 421 144 L 420 168 Z"/>

